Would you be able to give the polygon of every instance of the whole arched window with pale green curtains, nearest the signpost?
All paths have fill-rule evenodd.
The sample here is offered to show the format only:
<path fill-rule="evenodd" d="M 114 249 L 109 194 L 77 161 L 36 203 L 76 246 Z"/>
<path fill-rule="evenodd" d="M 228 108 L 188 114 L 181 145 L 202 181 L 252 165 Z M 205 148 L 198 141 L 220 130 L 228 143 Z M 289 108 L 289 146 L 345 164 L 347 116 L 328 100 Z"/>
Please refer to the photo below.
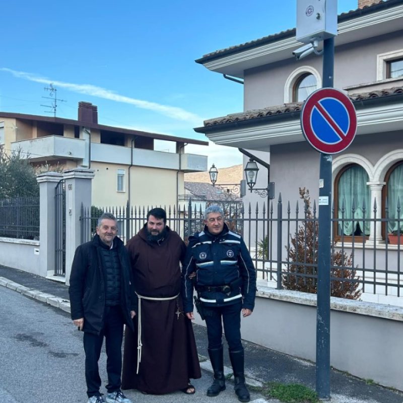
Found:
<path fill-rule="evenodd" d="M 363 221 L 370 218 L 371 210 L 368 180 L 368 173 L 358 164 L 346 166 L 335 178 L 334 207 L 340 220 L 335 235 L 369 235 L 370 222 Z"/>

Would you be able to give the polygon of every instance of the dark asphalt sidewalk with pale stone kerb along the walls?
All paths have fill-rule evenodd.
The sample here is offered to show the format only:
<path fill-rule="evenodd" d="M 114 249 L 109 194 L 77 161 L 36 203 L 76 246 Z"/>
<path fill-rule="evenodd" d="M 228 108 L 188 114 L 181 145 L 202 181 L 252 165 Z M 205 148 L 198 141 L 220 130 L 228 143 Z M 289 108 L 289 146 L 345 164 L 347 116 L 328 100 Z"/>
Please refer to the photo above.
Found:
<path fill-rule="evenodd" d="M 0 286 L 14 289 L 30 298 L 50 304 L 70 313 L 68 287 L 63 283 L 0 265 Z M 204 326 L 193 325 L 200 363 L 211 371 L 207 359 L 207 336 Z M 244 341 L 245 374 L 248 383 L 261 382 L 301 383 L 315 389 L 315 364 Z M 232 373 L 228 354 L 225 354 L 226 373 Z M 403 393 L 378 385 L 368 385 L 364 380 L 346 373 L 331 370 L 331 403 L 403 403 Z M 236 401 L 236 400 L 234 400 Z M 271 400 L 277 401 L 277 400 Z"/>

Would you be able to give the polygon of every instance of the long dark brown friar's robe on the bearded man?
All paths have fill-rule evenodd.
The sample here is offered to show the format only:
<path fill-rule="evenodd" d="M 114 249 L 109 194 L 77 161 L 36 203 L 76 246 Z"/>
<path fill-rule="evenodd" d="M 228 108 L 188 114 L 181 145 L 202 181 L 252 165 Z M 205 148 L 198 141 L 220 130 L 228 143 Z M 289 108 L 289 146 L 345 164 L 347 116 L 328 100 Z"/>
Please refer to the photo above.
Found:
<path fill-rule="evenodd" d="M 145 226 L 126 245 L 138 294 L 158 298 L 179 296 L 168 301 L 141 300 L 143 347 L 139 373 L 136 374 L 136 315 L 135 331 L 126 327 L 124 334 L 122 389 L 170 393 L 186 388 L 190 378 L 201 377 L 192 324 L 183 313 L 180 297 L 179 261 L 186 246 L 176 232 L 168 227 L 166 231 L 159 244 L 148 242 Z"/>

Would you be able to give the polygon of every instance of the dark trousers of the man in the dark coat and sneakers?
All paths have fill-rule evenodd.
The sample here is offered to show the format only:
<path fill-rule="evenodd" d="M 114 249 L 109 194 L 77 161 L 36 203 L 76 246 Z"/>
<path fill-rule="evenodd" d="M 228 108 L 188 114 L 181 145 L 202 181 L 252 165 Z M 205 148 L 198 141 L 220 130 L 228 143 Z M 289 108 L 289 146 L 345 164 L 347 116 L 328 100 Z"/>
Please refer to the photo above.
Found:
<path fill-rule="evenodd" d="M 120 390 L 120 374 L 122 371 L 122 340 L 123 314 L 120 306 L 105 308 L 104 327 L 100 334 L 84 333 L 85 351 L 85 379 L 87 381 L 87 395 L 99 396 L 101 378 L 98 370 L 98 360 L 101 355 L 105 337 L 106 371 L 108 373 L 108 393 Z"/>

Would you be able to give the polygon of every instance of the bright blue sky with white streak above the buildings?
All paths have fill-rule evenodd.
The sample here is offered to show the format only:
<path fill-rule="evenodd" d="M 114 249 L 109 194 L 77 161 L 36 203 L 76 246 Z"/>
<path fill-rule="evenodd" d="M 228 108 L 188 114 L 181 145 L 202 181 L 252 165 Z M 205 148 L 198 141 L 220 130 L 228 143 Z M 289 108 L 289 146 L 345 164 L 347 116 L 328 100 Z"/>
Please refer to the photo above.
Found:
<path fill-rule="evenodd" d="M 339 13 L 357 0 L 339 0 Z M 3 2 L 0 111 L 77 119 L 79 101 L 98 106 L 101 124 L 207 140 L 193 127 L 240 112 L 243 86 L 195 59 L 296 25 L 296 0 Z M 47 112 L 46 112 L 47 111 Z M 166 151 L 166 144 L 157 148 Z M 239 164 L 232 148 L 187 147 L 209 166 Z"/>

